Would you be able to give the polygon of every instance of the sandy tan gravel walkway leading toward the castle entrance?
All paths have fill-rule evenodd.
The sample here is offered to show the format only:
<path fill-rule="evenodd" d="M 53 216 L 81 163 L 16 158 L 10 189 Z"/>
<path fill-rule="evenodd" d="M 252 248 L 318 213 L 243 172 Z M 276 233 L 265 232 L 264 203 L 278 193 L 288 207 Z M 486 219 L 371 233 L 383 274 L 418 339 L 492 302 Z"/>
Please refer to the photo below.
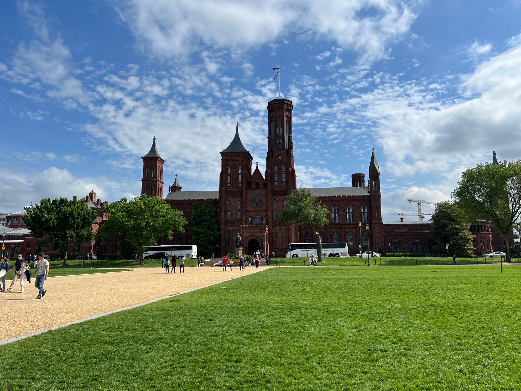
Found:
<path fill-rule="evenodd" d="M 149 267 L 135 268 L 128 272 L 54 277 L 47 278 L 44 285 L 47 294 L 41 300 L 34 300 L 38 296 L 34 279 L 31 278 L 31 284 L 26 281 L 23 293 L 18 292 L 18 280 L 12 293 L 0 293 L 0 308 L 4 319 L 0 340 L 259 272 L 265 268 L 260 266 L 258 270 L 252 270 L 251 267 L 246 267 L 241 272 L 236 266 L 232 272 L 222 272 L 222 267 L 218 266 L 187 267 L 182 274 L 165 274 L 163 268 Z M 51 269 L 49 277 L 52 272 Z M 9 284 L 10 280 L 7 286 Z"/>

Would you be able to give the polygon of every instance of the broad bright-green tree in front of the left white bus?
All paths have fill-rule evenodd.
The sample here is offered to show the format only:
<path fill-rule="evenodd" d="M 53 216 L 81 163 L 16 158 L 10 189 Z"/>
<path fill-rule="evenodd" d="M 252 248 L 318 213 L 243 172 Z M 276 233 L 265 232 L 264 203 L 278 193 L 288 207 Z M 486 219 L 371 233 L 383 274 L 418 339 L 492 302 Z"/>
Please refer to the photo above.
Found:
<path fill-rule="evenodd" d="M 100 237 L 107 241 L 119 233 L 120 240 L 138 251 L 143 264 L 143 251 L 154 246 L 159 237 L 172 238 L 172 231 L 184 232 L 186 223 L 180 211 L 172 209 L 165 200 L 141 194 L 127 200 L 122 198 L 105 206 L 107 221 L 100 227 Z"/>

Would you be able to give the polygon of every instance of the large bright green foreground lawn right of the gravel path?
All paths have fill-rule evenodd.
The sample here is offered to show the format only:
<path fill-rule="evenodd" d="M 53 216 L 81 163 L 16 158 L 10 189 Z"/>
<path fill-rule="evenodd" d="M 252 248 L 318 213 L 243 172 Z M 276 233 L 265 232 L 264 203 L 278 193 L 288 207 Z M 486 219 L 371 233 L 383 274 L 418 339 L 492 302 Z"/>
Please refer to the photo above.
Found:
<path fill-rule="evenodd" d="M 520 277 L 271 268 L 0 346 L 0 389 L 515 390 Z"/>

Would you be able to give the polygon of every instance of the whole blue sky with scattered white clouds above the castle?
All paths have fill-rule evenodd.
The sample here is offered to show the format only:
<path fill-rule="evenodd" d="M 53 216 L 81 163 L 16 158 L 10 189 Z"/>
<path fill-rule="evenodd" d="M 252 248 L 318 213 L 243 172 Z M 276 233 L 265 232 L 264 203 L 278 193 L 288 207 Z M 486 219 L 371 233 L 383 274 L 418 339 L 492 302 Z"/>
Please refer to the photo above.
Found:
<path fill-rule="evenodd" d="M 276 66 L 299 185 L 350 186 L 374 146 L 383 213 L 414 212 L 405 198 L 449 199 L 492 150 L 519 157 L 520 2 L 283 5 L 3 2 L 0 211 L 136 196 L 153 136 L 165 187 L 217 189 L 236 121 L 264 172 Z"/>

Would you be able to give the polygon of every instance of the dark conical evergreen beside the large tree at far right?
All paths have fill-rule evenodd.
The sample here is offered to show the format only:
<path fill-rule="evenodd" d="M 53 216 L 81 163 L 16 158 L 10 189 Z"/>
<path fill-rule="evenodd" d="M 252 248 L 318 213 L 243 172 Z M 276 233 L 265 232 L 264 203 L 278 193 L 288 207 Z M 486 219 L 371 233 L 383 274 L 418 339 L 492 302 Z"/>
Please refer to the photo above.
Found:
<path fill-rule="evenodd" d="M 461 218 L 460 212 L 452 202 L 443 201 L 436 204 L 430 234 L 434 241 L 434 251 L 445 253 L 445 243 L 449 243 L 449 251 L 452 254 L 472 256 L 474 253 L 469 224 Z"/>

